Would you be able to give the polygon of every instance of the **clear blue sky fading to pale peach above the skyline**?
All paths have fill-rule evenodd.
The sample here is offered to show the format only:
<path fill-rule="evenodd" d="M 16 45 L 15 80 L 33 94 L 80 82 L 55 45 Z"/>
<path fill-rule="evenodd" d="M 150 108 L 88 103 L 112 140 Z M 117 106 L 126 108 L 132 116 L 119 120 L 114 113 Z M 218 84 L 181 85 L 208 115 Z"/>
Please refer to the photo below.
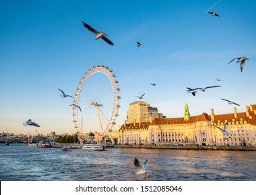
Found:
<path fill-rule="evenodd" d="M 191 116 L 211 108 L 232 113 L 234 104 L 220 98 L 245 111 L 256 104 L 256 1 L 223 0 L 211 8 L 216 2 L 1 0 L 0 132 L 33 132 L 22 125 L 31 118 L 42 134 L 72 134 L 72 100 L 57 88 L 74 95 L 84 72 L 97 64 L 109 66 L 119 80 L 118 125 L 143 93 L 170 118 L 182 117 L 186 102 Z M 211 17 L 209 8 L 220 17 Z M 107 33 L 114 46 L 94 40 L 81 21 Z M 229 63 L 241 56 L 249 59 L 243 72 Z M 221 87 L 195 97 L 186 92 L 215 85 Z"/>

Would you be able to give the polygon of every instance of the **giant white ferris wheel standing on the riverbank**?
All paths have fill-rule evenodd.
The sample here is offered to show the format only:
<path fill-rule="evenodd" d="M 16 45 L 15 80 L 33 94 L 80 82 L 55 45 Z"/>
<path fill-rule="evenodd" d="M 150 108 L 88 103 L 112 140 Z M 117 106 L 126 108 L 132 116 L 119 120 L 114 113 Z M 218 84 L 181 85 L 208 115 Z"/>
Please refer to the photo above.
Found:
<path fill-rule="evenodd" d="M 89 132 L 98 132 L 94 141 L 110 138 L 119 116 L 119 81 L 105 65 L 97 65 L 85 72 L 80 80 L 73 103 L 73 123 L 80 141 L 90 140 Z M 78 106 L 78 107 L 77 107 Z"/>

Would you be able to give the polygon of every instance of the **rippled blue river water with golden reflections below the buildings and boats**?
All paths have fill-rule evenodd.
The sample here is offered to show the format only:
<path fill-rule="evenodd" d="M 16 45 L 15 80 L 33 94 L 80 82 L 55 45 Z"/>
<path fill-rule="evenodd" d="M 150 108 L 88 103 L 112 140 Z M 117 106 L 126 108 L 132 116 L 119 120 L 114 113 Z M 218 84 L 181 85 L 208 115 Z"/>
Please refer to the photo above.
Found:
<path fill-rule="evenodd" d="M 255 181 L 256 151 L 107 148 L 103 151 L 0 146 L 1 181 L 137 181 L 134 158 L 150 181 Z"/>

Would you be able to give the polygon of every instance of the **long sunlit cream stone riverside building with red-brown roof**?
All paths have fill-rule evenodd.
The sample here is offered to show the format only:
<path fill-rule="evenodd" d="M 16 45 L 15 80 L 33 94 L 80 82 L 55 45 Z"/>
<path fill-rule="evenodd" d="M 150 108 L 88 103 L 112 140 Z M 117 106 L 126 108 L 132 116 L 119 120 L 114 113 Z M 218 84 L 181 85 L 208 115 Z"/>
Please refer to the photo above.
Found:
<path fill-rule="evenodd" d="M 134 102 L 141 104 L 140 102 Z M 133 106 L 133 104 L 130 106 Z M 145 107 L 149 104 L 143 102 Z M 146 112 L 146 109 L 144 109 Z M 130 114 L 134 116 L 142 116 L 136 112 L 128 111 L 128 119 Z M 139 110 L 140 111 L 140 110 Z M 162 114 L 163 116 L 163 114 Z M 214 110 L 210 110 L 210 114 L 202 113 L 197 116 L 190 116 L 188 104 L 184 107 L 184 117 L 181 118 L 151 118 L 151 120 L 136 120 L 133 118 L 132 123 L 121 125 L 117 136 L 120 144 L 154 144 L 154 145 L 182 145 L 199 144 L 202 146 L 256 146 L 256 105 L 246 106 L 245 112 L 231 114 L 214 114 Z M 224 136 L 218 130 L 223 128 L 228 122 L 226 131 L 229 136 Z M 128 120 L 131 122 L 132 120 Z"/>

